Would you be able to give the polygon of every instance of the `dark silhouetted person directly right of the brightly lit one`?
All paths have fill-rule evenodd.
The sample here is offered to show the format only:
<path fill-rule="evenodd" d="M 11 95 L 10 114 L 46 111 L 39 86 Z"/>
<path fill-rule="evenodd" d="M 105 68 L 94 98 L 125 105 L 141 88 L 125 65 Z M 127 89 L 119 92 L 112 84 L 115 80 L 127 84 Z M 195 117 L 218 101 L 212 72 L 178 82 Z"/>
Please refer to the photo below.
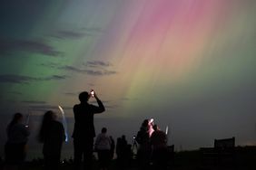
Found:
<path fill-rule="evenodd" d="M 153 129 L 150 139 L 153 146 L 153 167 L 164 170 L 168 161 L 167 136 L 157 125 L 153 125 Z"/>

